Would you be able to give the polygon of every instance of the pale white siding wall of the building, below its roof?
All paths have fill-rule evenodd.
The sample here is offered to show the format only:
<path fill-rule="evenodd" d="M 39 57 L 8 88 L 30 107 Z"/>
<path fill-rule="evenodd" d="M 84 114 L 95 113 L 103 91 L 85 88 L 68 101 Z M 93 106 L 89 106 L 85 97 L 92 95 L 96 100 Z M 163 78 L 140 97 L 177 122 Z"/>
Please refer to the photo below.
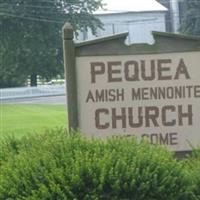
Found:
<path fill-rule="evenodd" d="M 152 43 L 152 31 L 166 31 L 165 12 L 128 12 L 96 16 L 102 21 L 105 29 L 98 29 L 97 37 L 129 32 L 128 43 Z M 82 35 L 83 33 L 80 33 L 79 40 L 83 39 Z M 95 37 L 88 31 L 85 39 Z"/>

